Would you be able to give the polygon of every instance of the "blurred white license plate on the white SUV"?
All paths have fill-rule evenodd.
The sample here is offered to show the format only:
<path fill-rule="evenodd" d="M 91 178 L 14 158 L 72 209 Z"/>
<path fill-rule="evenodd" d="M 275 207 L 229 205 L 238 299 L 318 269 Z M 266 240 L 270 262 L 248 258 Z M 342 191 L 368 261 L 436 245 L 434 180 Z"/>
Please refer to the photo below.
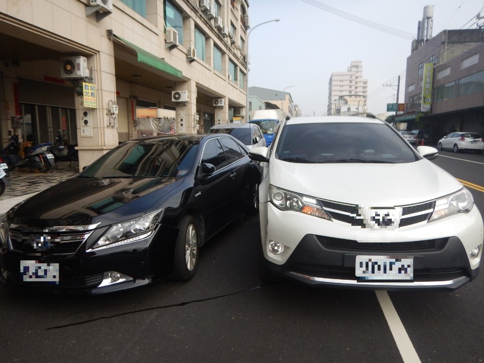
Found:
<path fill-rule="evenodd" d="M 413 258 L 356 256 L 355 275 L 361 280 L 412 280 Z"/>

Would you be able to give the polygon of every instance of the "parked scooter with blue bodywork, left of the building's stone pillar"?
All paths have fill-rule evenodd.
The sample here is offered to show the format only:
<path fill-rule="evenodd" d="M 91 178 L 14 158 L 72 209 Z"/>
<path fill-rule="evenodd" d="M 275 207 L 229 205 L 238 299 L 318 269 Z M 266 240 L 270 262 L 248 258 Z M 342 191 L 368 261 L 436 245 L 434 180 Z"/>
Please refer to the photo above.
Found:
<path fill-rule="evenodd" d="M 9 144 L 4 149 L 4 159 L 12 170 L 16 167 L 36 168 L 40 172 L 47 172 L 55 165 L 54 155 L 49 151 L 51 143 L 43 143 L 25 148 L 25 157 L 20 155 L 20 142 L 18 135 L 12 135 Z"/>

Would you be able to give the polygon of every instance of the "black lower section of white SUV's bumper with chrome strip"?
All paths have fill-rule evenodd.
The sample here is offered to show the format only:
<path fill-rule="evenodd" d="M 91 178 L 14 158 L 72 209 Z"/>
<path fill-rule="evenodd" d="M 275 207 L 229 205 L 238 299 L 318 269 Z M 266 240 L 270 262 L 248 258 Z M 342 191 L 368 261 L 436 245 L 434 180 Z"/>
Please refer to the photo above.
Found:
<path fill-rule="evenodd" d="M 473 280 L 479 268 L 471 269 L 466 251 L 457 237 L 431 241 L 388 244 L 360 244 L 316 235 L 306 235 L 286 263 L 277 265 L 263 260 L 265 269 L 308 285 L 399 290 L 408 288 L 454 290 Z M 380 244 L 381 245 L 381 244 Z M 422 252 L 427 249 L 428 252 Z M 416 250 L 420 250 L 417 252 Z M 357 255 L 413 257 L 410 281 L 361 280 L 355 275 Z"/>

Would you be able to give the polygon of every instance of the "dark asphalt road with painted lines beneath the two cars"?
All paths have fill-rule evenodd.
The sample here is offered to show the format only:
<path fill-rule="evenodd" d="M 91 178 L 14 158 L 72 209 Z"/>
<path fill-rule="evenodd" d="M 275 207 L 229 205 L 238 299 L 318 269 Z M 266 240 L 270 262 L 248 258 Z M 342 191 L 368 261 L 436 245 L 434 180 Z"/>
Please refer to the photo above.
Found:
<path fill-rule="evenodd" d="M 484 187 L 484 155 L 439 154 L 436 164 Z M 469 190 L 484 214 L 484 192 Z M 201 250 L 188 283 L 100 296 L 0 289 L 0 360 L 484 361 L 482 275 L 453 292 L 264 285 L 258 251 L 258 217 L 240 217 Z"/>

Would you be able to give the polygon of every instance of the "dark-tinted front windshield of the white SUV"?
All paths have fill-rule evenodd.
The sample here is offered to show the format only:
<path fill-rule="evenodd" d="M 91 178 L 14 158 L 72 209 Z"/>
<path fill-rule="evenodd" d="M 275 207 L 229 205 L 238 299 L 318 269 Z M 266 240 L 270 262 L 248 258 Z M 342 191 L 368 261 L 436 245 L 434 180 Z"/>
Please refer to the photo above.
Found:
<path fill-rule="evenodd" d="M 407 163 L 416 153 L 386 124 L 285 125 L 276 157 L 300 163 Z"/>

